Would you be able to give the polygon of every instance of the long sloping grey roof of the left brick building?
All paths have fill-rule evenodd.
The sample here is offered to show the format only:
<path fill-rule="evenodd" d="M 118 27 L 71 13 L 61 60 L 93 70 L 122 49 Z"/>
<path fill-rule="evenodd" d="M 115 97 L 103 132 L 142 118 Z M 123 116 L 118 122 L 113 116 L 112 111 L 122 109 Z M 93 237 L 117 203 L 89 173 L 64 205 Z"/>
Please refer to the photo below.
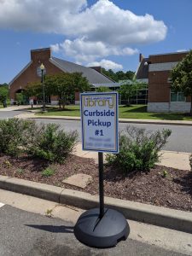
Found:
<path fill-rule="evenodd" d="M 90 67 L 84 67 L 78 64 L 75 64 L 70 61 L 63 61 L 61 59 L 51 57 L 50 61 L 56 66 L 59 67 L 63 72 L 67 73 L 82 73 L 83 76 L 88 79 L 90 84 L 108 84 L 113 83 L 112 79 L 109 79 L 102 73 L 97 72 L 95 69 Z"/>

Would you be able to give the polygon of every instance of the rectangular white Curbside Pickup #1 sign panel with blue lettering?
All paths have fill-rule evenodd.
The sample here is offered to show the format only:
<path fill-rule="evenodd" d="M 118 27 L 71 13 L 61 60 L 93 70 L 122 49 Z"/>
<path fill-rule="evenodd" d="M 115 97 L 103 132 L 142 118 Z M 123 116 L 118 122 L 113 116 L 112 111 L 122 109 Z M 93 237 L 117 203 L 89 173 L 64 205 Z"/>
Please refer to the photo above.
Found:
<path fill-rule="evenodd" d="M 118 92 L 82 93 L 82 148 L 119 153 Z"/>

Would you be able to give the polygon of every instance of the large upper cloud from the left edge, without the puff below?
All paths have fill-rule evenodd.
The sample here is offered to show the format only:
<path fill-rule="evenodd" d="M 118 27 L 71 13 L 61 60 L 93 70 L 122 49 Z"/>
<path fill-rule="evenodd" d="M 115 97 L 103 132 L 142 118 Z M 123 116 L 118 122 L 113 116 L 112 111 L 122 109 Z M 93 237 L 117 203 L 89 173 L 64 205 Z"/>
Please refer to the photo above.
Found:
<path fill-rule="evenodd" d="M 86 0 L 1 0 L 0 27 L 57 32 L 91 42 L 146 44 L 166 37 L 166 25 L 152 15 L 135 15 L 109 0 L 90 8 Z"/>

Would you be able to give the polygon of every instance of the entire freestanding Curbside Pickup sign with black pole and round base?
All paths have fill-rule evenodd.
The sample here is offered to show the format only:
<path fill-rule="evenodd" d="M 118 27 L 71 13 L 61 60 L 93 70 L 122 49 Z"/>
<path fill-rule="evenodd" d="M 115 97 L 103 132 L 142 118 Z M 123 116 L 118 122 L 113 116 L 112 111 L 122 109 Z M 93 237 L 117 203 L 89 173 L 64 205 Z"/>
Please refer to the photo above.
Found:
<path fill-rule="evenodd" d="M 118 100 L 117 92 L 81 94 L 82 149 L 98 152 L 100 207 L 79 217 L 74 235 L 90 247 L 113 247 L 130 233 L 125 217 L 104 207 L 103 152 L 119 153 Z"/>

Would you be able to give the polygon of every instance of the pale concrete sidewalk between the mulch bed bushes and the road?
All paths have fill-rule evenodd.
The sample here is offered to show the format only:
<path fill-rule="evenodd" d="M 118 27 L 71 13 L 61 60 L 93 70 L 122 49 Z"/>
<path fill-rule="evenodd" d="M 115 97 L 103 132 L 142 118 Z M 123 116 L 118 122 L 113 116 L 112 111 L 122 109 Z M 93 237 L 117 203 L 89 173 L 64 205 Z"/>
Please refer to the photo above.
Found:
<path fill-rule="evenodd" d="M 98 162 L 98 153 L 93 151 L 83 151 L 81 143 L 78 143 L 78 145 L 74 149 L 74 154 L 80 157 L 93 158 L 94 160 L 96 160 L 96 163 Z M 190 153 L 162 150 L 160 154 L 160 166 L 172 167 L 180 170 L 190 170 Z"/>

